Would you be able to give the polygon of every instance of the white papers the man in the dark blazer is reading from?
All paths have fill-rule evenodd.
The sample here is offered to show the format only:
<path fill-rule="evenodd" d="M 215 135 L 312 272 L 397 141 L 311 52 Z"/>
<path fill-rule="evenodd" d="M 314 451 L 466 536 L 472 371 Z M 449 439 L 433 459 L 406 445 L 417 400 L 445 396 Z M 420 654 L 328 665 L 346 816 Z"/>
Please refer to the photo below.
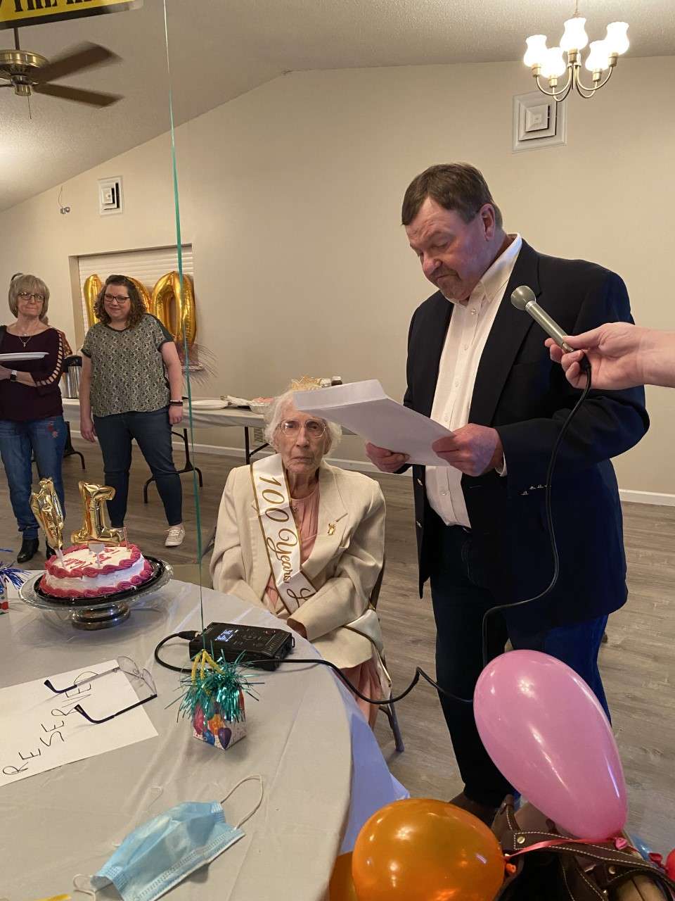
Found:
<path fill-rule="evenodd" d="M 294 398 L 303 413 L 340 423 L 378 447 L 407 453 L 410 463 L 449 465 L 432 451 L 431 445 L 452 432 L 427 416 L 397 404 L 384 393 L 376 378 L 315 391 L 296 391 Z"/>

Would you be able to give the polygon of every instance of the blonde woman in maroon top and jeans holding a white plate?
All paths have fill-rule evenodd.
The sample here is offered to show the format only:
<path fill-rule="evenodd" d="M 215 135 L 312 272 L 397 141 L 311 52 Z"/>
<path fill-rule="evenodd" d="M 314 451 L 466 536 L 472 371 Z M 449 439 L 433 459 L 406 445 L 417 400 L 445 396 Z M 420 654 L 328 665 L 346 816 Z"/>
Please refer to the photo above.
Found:
<path fill-rule="evenodd" d="M 66 444 L 58 378 L 63 363 L 63 341 L 57 329 L 44 323 L 49 288 L 35 276 L 14 276 L 9 287 L 9 308 L 16 322 L 0 326 L 0 454 L 9 484 L 12 509 L 23 542 L 16 560 L 24 563 L 37 552 L 38 522 L 32 514 L 31 457 L 40 478 L 52 478 L 64 507 L 61 463 Z M 40 359 L 13 360 L 4 354 L 40 351 Z M 50 556 L 47 548 L 47 556 Z"/>

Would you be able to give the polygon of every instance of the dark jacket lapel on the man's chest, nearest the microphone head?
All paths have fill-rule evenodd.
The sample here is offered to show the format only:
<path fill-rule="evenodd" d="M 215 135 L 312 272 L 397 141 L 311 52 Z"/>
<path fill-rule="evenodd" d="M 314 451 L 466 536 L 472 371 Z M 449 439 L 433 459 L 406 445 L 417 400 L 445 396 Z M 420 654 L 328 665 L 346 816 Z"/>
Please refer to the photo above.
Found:
<path fill-rule="evenodd" d="M 511 304 L 511 292 L 519 285 L 529 285 L 539 296 L 539 255 L 526 241 L 518 254 L 509 284 L 497 311 L 495 321 L 476 373 L 469 422 L 491 425 L 501 392 L 509 378 L 509 370 L 528 330 L 534 324 L 529 315 Z M 544 342 L 544 335 L 542 335 Z"/>

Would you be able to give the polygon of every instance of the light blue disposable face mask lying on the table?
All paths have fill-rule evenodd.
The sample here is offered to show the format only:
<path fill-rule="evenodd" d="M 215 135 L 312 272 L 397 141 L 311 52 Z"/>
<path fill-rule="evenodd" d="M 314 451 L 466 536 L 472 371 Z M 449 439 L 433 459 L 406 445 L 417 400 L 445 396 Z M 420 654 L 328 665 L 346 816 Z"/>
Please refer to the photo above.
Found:
<path fill-rule="evenodd" d="M 230 826 L 225 822 L 221 804 L 249 779 L 260 783 L 260 798 L 247 816 Z M 188 801 L 171 807 L 124 839 L 111 859 L 90 878 L 91 888 L 78 885 L 78 876 L 73 885 L 95 897 L 99 888 L 112 883 L 124 901 L 155 901 L 238 842 L 244 835 L 239 827 L 255 814 L 262 800 L 262 778 L 248 776 L 231 788 L 221 802 Z"/>

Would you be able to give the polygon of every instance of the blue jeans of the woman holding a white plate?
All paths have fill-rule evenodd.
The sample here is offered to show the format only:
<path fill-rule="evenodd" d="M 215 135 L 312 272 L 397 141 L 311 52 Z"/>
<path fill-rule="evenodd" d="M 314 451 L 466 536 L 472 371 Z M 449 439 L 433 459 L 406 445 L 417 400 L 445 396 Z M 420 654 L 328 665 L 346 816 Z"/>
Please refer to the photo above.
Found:
<path fill-rule="evenodd" d="M 58 499 L 64 515 L 66 514 L 61 477 L 66 437 L 63 416 L 31 419 L 27 423 L 0 419 L 0 455 L 9 485 L 12 509 L 24 539 L 38 537 L 38 521 L 31 510 L 32 454 L 35 454 L 40 478 L 54 480 Z"/>

